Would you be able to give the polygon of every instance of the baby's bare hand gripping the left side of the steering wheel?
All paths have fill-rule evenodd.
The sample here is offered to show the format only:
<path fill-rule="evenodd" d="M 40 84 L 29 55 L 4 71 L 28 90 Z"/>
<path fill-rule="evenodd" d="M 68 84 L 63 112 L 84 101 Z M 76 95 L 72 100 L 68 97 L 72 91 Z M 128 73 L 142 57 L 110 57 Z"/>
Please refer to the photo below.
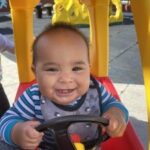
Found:
<path fill-rule="evenodd" d="M 43 133 L 36 131 L 38 121 L 17 123 L 12 130 L 13 142 L 23 149 L 34 150 L 41 142 Z"/>

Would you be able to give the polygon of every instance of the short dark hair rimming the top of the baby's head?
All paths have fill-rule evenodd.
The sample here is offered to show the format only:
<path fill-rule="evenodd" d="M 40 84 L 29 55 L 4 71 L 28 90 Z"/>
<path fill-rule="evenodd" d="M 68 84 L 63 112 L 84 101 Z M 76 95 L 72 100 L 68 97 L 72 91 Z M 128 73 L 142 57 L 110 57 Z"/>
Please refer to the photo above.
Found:
<path fill-rule="evenodd" d="M 78 34 L 84 40 L 84 42 L 87 46 L 87 53 L 88 53 L 88 57 L 89 57 L 89 42 L 88 42 L 88 39 L 85 37 L 85 35 L 71 24 L 64 23 L 64 22 L 57 22 L 55 24 L 48 24 L 44 28 L 44 30 L 34 40 L 33 45 L 32 45 L 32 51 L 33 51 L 32 65 L 35 65 L 36 61 L 37 61 L 37 49 L 38 49 L 37 45 L 38 45 L 39 39 L 48 33 L 58 31 L 60 29 L 69 30 L 75 34 Z"/>

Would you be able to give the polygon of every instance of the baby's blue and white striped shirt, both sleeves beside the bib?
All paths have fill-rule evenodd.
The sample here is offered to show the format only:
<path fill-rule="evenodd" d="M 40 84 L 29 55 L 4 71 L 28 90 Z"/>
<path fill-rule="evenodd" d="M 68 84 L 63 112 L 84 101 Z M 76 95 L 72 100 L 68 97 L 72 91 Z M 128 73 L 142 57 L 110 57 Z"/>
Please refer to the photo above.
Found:
<path fill-rule="evenodd" d="M 101 91 L 100 100 L 102 112 L 106 112 L 110 107 L 117 107 L 124 113 L 125 119 L 128 121 L 128 111 L 124 105 L 108 93 L 100 82 L 99 89 Z M 41 97 L 38 84 L 32 85 L 24 91 L 13 106 L 0 119 L 0 136 L 6 143 L 14 145 L 11 140 L 11 131 L 17 122 L 28 120 L 44 122 L 41 112 Z"/>

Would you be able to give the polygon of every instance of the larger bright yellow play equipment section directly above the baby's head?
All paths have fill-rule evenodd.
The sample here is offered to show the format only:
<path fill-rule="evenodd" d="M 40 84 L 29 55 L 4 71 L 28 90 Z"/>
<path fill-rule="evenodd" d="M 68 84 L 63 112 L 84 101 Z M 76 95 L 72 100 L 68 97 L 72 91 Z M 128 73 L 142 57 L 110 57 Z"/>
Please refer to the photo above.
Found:
<path fill-rule="evenodd" d="M 88 9 L 78 0 L 54 0 L 52 23 L 89 24 Z"/>

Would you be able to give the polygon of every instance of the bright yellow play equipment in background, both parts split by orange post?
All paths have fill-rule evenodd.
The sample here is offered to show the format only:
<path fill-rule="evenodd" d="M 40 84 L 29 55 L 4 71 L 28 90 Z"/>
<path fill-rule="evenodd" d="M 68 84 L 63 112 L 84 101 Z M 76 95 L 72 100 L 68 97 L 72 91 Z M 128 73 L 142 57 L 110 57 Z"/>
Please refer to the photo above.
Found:
<path fill-rule="evenodd" d="M 123 22 L 121 1 L 111 0 L 109 7 L 109 23 Z M 85 4 L 79 0 L 54 0 L 52 23 L 57 21 L 80 25 L 89 24 L 89 12 Z"/>

